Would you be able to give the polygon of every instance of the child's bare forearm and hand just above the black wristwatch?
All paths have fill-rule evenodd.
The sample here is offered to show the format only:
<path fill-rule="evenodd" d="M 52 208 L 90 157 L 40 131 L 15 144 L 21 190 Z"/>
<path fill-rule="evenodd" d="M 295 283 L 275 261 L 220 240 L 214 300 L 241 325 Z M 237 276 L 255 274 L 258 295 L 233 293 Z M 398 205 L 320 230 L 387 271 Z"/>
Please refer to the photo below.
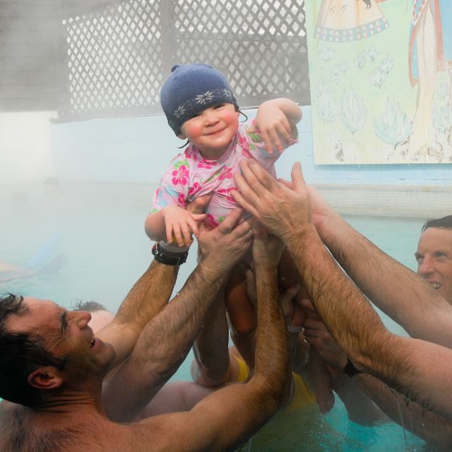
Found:
<path fill-rule="evenodd" d="M 176 242 L 179 246 L 191 244 L 191 234 L 198 237 L 196 222 L 203 220 L 204 214 L 190 213 L 179 206 L 166 206 L 158 212 L 149 213 L 144 223 L 148 237 L 153 240 Z"/>

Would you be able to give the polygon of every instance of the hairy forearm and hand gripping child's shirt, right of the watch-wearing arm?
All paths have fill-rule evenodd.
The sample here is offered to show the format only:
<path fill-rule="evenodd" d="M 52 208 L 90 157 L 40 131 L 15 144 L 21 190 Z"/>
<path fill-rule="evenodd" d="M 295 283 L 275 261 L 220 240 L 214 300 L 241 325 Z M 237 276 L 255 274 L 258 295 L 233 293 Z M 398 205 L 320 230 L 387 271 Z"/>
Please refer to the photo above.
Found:
<path fill-rule="evenodd" d="M 233 228 L 241 213 L 234 210 L 200 237 L 203 259 L 182 290 L 145 327 L 131 357 L 107 379 L 102 397 L 112 420 L 136 417 L 185 359 L 230 268 L 251 242 L 249 221 Z"/>

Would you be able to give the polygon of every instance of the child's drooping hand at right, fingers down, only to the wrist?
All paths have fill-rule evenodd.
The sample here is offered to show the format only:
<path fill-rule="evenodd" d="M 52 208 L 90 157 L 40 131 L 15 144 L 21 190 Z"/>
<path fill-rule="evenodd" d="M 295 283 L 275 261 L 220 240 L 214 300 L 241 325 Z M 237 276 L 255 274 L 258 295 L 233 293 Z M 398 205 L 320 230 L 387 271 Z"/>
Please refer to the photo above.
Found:
<path fill-rule="evenodd" d="M 292 140 L 290 122 L 285 116 L 282 109 L 274 105 L 272 102 L 263 102 L 258 108 L 254 127 L 249 132 L 261 132 L 261 136 L 266 145 L 268 153 L 273 153 L 276 148 L 279 153 L 284 150 L 281 138 L 290 143 Z"/>

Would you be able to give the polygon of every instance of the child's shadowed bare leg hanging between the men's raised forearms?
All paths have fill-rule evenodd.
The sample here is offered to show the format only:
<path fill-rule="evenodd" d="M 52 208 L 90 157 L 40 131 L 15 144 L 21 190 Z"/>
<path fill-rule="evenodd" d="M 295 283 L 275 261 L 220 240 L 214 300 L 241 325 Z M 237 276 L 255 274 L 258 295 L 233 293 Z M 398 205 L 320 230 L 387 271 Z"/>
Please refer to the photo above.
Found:
<path fill-rule="evenodd" d="M 242 267 L 232 270 L 225 290 L 225 304 L 232 342 L 251 371 L 254 369 L 254 332 L 257 319 L 254 304 L 246 292 L 246 278 Z"/>

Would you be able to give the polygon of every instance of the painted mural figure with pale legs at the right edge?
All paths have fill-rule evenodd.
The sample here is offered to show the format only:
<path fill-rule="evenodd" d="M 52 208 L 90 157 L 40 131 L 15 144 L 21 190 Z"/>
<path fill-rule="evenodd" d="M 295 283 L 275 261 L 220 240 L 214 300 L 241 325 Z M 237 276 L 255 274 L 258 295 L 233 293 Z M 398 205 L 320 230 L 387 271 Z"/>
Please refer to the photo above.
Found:
<path fill-rule="evenodd" d="M 435 132 L 433 100 L 440 71 L 452 78 L 452 2 L 450 0 L 413 0 L 410 30 L 410 82 L 419 85 L 417 109 L 410 136 L 409 153 L 413 157 L 433 154 Z M 449 107 L 452 106 L 452 84 L 449 84 Z"/>

